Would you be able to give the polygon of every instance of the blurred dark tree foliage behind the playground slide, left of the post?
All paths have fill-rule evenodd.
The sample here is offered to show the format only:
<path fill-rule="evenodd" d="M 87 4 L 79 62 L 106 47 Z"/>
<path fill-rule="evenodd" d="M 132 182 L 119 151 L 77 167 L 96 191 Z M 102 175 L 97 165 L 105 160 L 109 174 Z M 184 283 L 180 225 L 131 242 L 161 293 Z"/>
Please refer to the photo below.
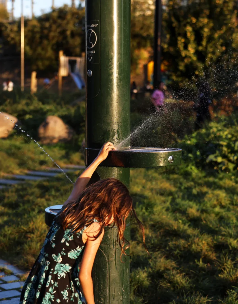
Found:
<path fill-rule="evenodd" d="M 80 56 L 84 46 L 84 9 L 67 5 L 25 21 L 25 57 L 34 70 L 57 69 L 58 52 Z M 20 50 L 20 22 L 5 24 L 4 38 Z"/>

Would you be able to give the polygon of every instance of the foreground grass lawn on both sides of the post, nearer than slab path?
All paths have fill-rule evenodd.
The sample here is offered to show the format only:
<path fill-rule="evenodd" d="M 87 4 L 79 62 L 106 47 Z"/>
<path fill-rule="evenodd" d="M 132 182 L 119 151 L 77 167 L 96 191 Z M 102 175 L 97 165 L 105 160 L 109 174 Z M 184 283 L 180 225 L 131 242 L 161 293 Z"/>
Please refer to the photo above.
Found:
<path fill-rule="evenodd" d="M 0 191 L 1 258 L 29 270 L 47 232 L 44 209 L 63 203 L 70 189 L 59 175 Z M 153 257 L 132 223 L 131 303 L 237 303 L 235 177 L 185 165 L 133 169 L 131 193 Z"/>

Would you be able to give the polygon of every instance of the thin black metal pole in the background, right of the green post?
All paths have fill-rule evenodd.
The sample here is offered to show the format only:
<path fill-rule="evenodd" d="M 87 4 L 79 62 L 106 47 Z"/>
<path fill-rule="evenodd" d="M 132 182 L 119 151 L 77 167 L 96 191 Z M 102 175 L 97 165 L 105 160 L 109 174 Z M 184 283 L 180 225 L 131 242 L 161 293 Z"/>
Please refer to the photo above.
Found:
<path fill-rule="evenodd" d="M 155 0 L 155 39 L 154 39 L 154 88 L 161 81 L 161 0 Z"/>

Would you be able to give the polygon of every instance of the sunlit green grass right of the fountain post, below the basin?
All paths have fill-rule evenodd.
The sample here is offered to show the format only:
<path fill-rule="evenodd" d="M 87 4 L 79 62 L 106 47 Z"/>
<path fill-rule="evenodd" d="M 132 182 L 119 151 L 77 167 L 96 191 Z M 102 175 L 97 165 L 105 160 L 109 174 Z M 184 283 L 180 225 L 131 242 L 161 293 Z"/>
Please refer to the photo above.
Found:
<path fill-rule="evenodd" d="M 238 287 L 238 185 L 231 174 L 131 172 L 151 260 L 132 230 L 131 303 L 229 303 Z M 236 303 L 236 292 L 229 297 Z"/>

